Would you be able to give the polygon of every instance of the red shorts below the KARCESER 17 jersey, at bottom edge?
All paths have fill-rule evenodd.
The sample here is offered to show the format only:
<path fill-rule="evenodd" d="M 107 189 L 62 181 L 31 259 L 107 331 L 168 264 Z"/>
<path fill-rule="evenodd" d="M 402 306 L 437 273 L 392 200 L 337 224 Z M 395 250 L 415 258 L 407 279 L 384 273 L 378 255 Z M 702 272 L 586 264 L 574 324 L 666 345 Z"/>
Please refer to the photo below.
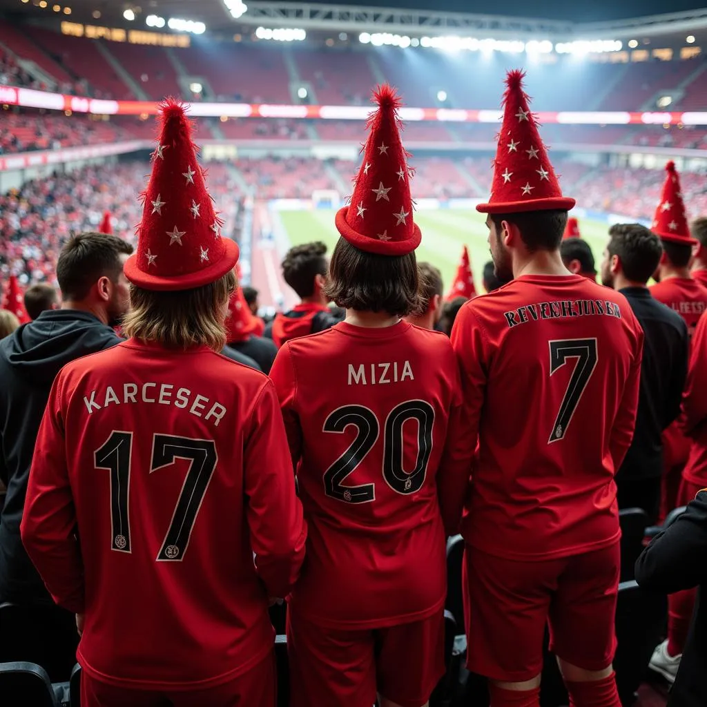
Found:
<path fill-rule="evenodd" d="M 196 690 L 134 690 L 81 673 L 81 707 L 275 707 L 275 653 L 223 684 Z"/>

